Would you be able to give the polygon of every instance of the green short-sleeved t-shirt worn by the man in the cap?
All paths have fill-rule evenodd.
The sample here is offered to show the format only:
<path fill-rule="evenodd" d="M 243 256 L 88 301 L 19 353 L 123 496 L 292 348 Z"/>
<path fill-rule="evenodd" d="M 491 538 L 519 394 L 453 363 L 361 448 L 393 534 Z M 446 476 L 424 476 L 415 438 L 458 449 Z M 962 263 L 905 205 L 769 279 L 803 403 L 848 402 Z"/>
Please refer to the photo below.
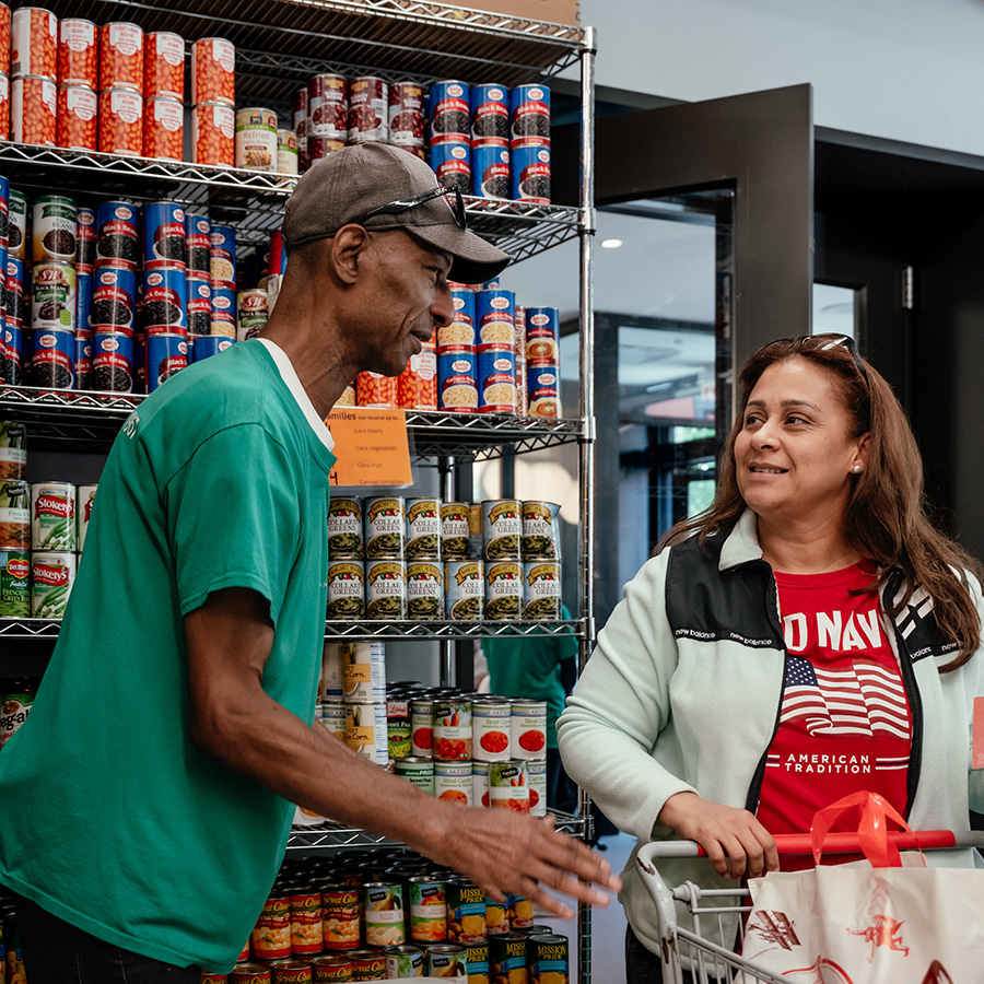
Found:
<path fill-rule="evenodd" d="M 140 405 L 99 481 L 37 700 L 0 754 L 0 881 L 169 963 L 227 971 L 283 858 L 294 808 L 188 738 L 181 619 L 220 588 L 263 595 L 263 690 L 313 719 L 335 462 L 317 423 L 260 340 Z"/>

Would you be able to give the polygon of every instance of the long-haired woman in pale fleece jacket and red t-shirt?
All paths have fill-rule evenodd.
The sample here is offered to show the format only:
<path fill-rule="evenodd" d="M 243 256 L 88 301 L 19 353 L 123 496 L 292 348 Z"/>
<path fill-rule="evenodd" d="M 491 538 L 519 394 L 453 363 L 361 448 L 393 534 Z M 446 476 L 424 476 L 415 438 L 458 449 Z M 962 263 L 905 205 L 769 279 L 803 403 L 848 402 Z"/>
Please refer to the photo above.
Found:
<path fill-rule="evenodd" d="M 898 400 L 844 336 L 772 342 L 739 383 L 713 504 L 625 586 L 559 724 L 567 771 L 621 830 L 705 848 L 660 864 L 705 888 L 775 870 L 773 836 L 854 792 L 915 829 L 984 807 L 980 566 L 927 518 Z M 623 876 L 628 980 L 659 981 L 634 853 Z"/>

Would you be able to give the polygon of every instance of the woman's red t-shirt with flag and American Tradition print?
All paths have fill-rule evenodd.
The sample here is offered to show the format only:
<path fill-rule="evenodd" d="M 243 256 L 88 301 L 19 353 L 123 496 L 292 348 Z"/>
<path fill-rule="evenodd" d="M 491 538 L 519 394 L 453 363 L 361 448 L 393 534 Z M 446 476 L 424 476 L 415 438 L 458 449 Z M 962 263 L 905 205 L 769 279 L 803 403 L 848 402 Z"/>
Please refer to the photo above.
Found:
<path fill-rule="evenodd" d="M 817 810 L 863 789 L 905 809 L 905 687 L 877 596 L 851 594 L 868 587 L 874 573 L 862 562 L 828 574 L 775 575 L 789 659 L 757 810 L 771 834 L 807 832 Z M 856 830 L 857 819 L 845 813 L 833 829 Z M 837 859 L 846 858 L 830 862 Z M 783 858 L 783 869 L 800 867 L 798 860 Z"/>

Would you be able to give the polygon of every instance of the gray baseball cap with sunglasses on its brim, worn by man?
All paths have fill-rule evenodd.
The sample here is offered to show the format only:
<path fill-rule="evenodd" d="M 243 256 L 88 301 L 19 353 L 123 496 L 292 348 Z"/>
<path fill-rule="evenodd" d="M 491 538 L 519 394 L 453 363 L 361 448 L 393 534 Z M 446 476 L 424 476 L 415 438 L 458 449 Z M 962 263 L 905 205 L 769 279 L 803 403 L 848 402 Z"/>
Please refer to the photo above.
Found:
<path fill-rule="evenodd" d="M 459 283 L 492 280 L 512 260 L 465 229 L 460 196 L 443 189 L 420 157 L 385 143 L 335 151 L 304 174 L 288 199 L 284 248 L 327 239 L 350 222 L 370 231 L 402 229 L 449 253 L 448 279 Z"/>

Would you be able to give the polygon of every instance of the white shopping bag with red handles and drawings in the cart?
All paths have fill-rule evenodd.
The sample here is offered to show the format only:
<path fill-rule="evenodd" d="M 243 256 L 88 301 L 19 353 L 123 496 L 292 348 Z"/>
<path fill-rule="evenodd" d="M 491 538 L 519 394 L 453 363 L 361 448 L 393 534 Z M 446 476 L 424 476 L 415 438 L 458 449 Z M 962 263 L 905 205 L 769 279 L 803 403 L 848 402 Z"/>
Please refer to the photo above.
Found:
<path fill-rule="evenodd" d="M 830 828 L 854 806 L 868 859 L 820 865 Z M 749 880 L 742 956 L 790 984 L 982 984 L 984 871 L 900 855 L 887 818 L 911 832 L 874 793 L 820 810 L 811 829 L 816 868 Z"/>

